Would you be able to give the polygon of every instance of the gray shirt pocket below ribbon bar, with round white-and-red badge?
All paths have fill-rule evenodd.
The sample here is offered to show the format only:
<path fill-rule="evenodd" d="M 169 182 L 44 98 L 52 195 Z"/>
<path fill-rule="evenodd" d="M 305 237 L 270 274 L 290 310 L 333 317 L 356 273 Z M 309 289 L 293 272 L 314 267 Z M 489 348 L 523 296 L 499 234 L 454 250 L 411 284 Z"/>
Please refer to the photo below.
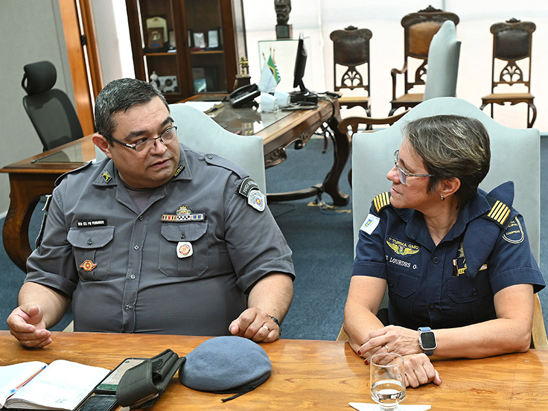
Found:
<path fill-rule="evenodd" d="M 188 242 L 192 255 L 179 258 L 177 245 Z M 208 269 L 208 222 L 162 223 L 158 269 L 169 277 L 197 277 Z"/>

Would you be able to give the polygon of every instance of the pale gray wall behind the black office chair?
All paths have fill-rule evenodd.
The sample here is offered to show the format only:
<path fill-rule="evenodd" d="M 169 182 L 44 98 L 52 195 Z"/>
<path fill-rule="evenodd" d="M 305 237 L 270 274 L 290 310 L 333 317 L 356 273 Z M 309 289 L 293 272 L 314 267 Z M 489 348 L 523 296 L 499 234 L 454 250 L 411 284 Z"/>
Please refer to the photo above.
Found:
<path fill-rule="evenodd" d="M 32 8 L 32 12 L 29 12 Z M 42 143 L 23 108 L 23 66 L 49 60 L 57 69 L 55 88 L 73 98 L 69 60 L 64 43 L 58 0 L 0 1 L 0 166 L 42 151 Z M 66 73 L 69 73 L 66 75 Z M 0 213 L 8 210 L 10 186 L 0 174 Z"/>

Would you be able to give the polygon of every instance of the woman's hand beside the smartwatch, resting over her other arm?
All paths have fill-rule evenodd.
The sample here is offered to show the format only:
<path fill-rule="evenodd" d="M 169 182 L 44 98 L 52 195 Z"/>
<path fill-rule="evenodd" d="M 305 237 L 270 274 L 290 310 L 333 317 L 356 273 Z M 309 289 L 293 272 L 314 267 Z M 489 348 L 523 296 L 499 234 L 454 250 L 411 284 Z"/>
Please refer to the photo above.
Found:
<path fill-rule="evenodd" d="M 371 358 L 377 352 L 394 352 L 400 356 L 422 353 L 419 332 L 412 329 L 388 325 L 369 333 L 367 340 L 358 349 L 358 356 Z"/>

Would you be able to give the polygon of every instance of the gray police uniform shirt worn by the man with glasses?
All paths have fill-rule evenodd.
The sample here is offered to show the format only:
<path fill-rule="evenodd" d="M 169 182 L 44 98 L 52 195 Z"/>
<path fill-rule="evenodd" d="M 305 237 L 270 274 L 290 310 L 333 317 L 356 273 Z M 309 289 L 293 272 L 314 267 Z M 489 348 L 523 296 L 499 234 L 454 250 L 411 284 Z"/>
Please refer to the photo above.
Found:
<path fill-rule="evenodd" d="M 60 178 L 25 282 L 71 297 L 75 331 L 225 335 L 259 279 L 295 279 L 240 166 L 184 145 L 179 164 L 141 211 L 110 159 Z"/>

